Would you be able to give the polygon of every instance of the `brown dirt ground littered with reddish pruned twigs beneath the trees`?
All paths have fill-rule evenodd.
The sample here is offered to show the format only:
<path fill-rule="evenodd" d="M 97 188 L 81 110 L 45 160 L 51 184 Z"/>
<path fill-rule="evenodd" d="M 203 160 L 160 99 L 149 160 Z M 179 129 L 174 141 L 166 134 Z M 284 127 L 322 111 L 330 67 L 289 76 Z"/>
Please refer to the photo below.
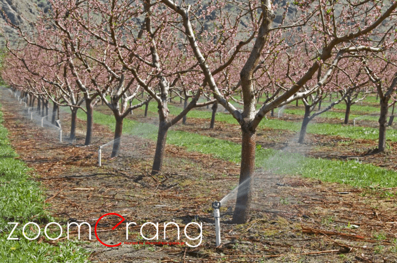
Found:
<path fill-rule="evenodd" d="M 133 154 L 104 157 L 103 166 L 98 167 L 98 146 L 113 137 L 109 128 L 94 125 L 95 144 L 82 147 L 85 123 L 79 121 L 77 140 L 60 143 L 58 132 L 28 119 L 25 108 L 8 91 L 0 91 L 0 103 L 11 143 L 20 159 L 33 168 L 32 176 L 41 182 L 47 196 L 47 210 L 60 224 L 88 222 L 94 229 L 102 215 L 117 213 L 137 224 L 130 226 L 130 243 L 144 243 L 139 231 L 146 222 L 159 223 L 159 242 L 164 242 L 163 224 L 175 222 L 180 227 L 181 240 L 177 239 L 176 227 L 169 226 L 167 242 L 197 245 L 198 241 L 185 237 L 184 228 L 191 222 L 202 223 L 202 242 L 197 248 L 186 244 L 134 245 L 124 244 L 125 222 L 112 230 L 120 218 L 108 216 L 100 221 L 98 236 L 106 244 L 122 245 L 101 245 L 94 230 L 90 241 L 87 228 L 82 227 L 82 246 L 91 252 L 92 262 L 397 262 L 397 188 L 358 189 L 258 170 L 250 221 L 230 224 L 234 200 L 227 201 L 221 208 L 222 244 L 216 247 L 211 202 L 235 188 L 239 166 L 167 146 L 164 171 L 151 176 L 155 143 L 129 137 L 131 144 L 125 147 Z M 61 116 L 65 134 L 68 118 L 68 114 Z M 217 128 L 210 131 L 200 128 L 199 121 L 193 125 L 189 119 L 188 125 L 177 128 L 190 127 L 191 131 L 208 136 L 229 136 L 226 131 L 230 125 L 217 123 Z M 284 136 L 290 135 L 260 133 L 260 143 L 268 147 L 274 144 L 274 148 L 285 147 Z M 357 141 L 351 141 L 350 147 L 345 147 L 346 143 L 339 143 L 342 140 L 310 135 L 307 155 L 317 153 L 332 158 L 355 154 L 372 163 L 391 158 L 390 165 L 385 162 L 385 166 L 395 169 L 395 145 L 391 154 L 366 157 L 362 152 L 373 147 L 374 142 L 356 145 Z M 72 231 L 77 238 L 76 228 Z M 154 228 L 144 227 L 143 234 L 153 237 Z M 200 230 L 190 225 L 187 234 L 198 237 Z"/>

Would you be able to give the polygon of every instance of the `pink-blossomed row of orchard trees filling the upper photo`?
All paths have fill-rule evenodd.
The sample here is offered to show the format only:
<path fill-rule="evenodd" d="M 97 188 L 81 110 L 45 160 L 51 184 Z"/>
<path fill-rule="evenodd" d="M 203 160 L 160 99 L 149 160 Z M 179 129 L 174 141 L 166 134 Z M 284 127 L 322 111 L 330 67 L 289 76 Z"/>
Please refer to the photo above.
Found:
<path fill-rule="evenodd" d="M 168 129 L 193 108 L 221 104 L 241 126 L 239 183 L 248 187 L 238 191 L 235 223 L 249 219 L 256 129 L 267 112 L 302 100 L 304 136 L 327 94 L 341 97 L 322 111 L 341 100 L 351 105 L 358 89 L 375 89 L 385 135 L 397 82 L 397 1 L 49 1 L 52 8 L 35 30 L 13 25 L 23 41 L 7 44 L 2 77 L 25 96 L 71 107 L 72 123 L 84 110 L 86 144 L 98 100 L 115 116 L 115 139 L 123 119 L 154 100 L 159 129 L 153 174 L 161 171 Z M 186 104 L 171 117 L 168 103 L 177 94 Z M 259 94 L 266 98 L 257 107 Z M 199 103 L 202 96 L 207 101 Z M 384 146 L 379 137 L 378 149 Z"/>

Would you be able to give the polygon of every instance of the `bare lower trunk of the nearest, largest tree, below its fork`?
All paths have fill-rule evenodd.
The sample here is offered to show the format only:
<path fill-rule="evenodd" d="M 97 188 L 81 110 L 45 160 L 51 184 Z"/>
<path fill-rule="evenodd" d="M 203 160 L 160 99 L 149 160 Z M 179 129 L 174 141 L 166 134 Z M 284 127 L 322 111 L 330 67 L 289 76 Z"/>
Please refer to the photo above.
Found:
<path fill-rule="evenodd" d="M 234 209 L 233 224 L 244 224 L 249 220 L 252 200 L 252 185 L 255 171 L 256 133 L 241 128 L 241 166 L 240 180 L 237 190 L 236 208 Z"/>

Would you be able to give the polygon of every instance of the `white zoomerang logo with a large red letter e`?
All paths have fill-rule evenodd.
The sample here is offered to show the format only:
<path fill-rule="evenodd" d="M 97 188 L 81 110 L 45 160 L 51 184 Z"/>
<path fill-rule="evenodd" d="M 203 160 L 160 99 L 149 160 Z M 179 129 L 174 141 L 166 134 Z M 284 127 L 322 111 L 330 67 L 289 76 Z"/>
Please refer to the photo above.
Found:
<path fill-rule="evenodd" d="M 119 215 L 119 214 L 116 214 L 116 213 L 108 213 L 108 214 L 105 214 L 105 215 L 101 216 L 101 217 L 98 219 L 98 221 L 96 222 L 95 228 L 94 228 L 94 233 L 95 233 L 95 237 L 97 238 L 97 240 L 98 240 L 102 245 L 104 245 L 104 246 L 106 246 L 106 247 L 117 247 L 117 246 L 120 246 L 122 243 L 120 242 L 119 244 L 116 244 L 116 245 L 108 245 L 108 244 L 105 244 L 105 243 L 98 237 L 98 234 L 97 234 L 97 227 L 98 227 L 99 221 L 101 221 L 101 219 L 103 219 L 104 217 L 110 216 L 110 215 L 118 216 L 119 218 L 121 218 L 121 221 L 120 221 L 116 226 L 114 226 L 114 227 L 112 228 L 112 230 L 115 230 L 118 226 L 120 226 L 121 223 L 123 223 L 123 222 L 125 221 L 125 218 L 122 217 L 122 216 Z M 17 222 L 11 222 L 11 223 L 8 223 L 8 224 L 14 224 L 15 226 L 14 226 L 13 230 L 11 231 L 10 235 L 8 236 L 7 240 L 20 240 L 19 237 L 12 237 L 12 236 L 13 236 L 13 233 L 14 233 L 14 231 L 17 229 L 19 223 L 17 223 Z M 25 229 L 26 229 L 29 225 L 34 225 L 34 226 L 36 226 L 36 227 L 39 229 L 39 233 L 38 233 L 37 236 L 34 237 L 34 238 L 29 238 L 29 237 L 26 236 Z M 57 226 L 59 227 L 60 231 L 61 231 L 61 233 L 59 234 L 59 236 L 56 237 L 56 238 L 50 238 L 50 237 L 48 236 L 48 234 L 47 234 L 47 229 L 48 229 L 48 227 L 51 226 L 51 225 L 57 225 Z M 72 225 L 76 225 L 77 228 L 78 228 L 78 239 L 79 239 L 79 240 L 80 240 L 80 228 L 81 228 L 81 226 L 82 226 L 82 225 L 87 225 L 87 226 L 88 226 L 88 229 L 89 229 L 89 239 L 91 240 L 91 225 L 90 225 L 89 223 L 87 223 L 87 222 L 82 222 L 82 223 L 80 223 L 80 224 L 78 224 L 78 223 L 76 223 L 76 222 L 68 223 L 68 226 L 67 226 L 67 238 L 68 238 L 68 240 L 69 240 L 69 228 L 70 228 L 70 226 L 72 226 Z M 126 240 L 128 240 L 128 228 L 129 228 L 131 225 L 137 226 L 137 224 L 136 224 L 135 222 L 130 222 L 130 223 L 127 222 L 127 223 L 126 223 Z M 152 237 L 152 238 L 147 238 L 147 237 L 145 237 L 145 236 L 143 235 L 143 233 L 142 233 L 142 230 L 143 230 L 144 227 L 147 226 L 147 225 L 152 225 L 152 226 L 154 226 L 155 229 L 156 229 L 156 235 L 155 235 L 154 237 Z M 175 223 L 175 222 L 164 223 L 164 240 L 166 240 L 166 229 L 167 229 L 167 227 L 168 227 L 169 225 L 174 225 L 174 226 L 177 227 L 177 230 L 178 230 L 178 240 L 179 240 L 179 239 L 180 239 L 179 225 L 178 225 L 177 223 Z M 198 228 L 200 229 L 200 235 L 199 235 L 198 237 L 191 238 L 191 237 L 188 236 L 188 234 L 186 233 L 186 229 L 187 229 L 190 225 L 197 225 L 197 226 L 198 226 Z M 24 227 L 22 228 L 22 235 L 23 235 L 27 240 L 36 240 L 36 239 L 39 238 L 40 234 L 41 234 L 40 226 L 39 226 L 37 223 L 35 223 L 35 222 L 28 222 L 28 223 L 26 223 L 26 224 L 24 225 Z M 48 224 L 46 225 L 46 227 L 45 227 L 45 229 L 44 229 L 44 234 L 45 234 L 45 236 L 46 236 L 49 240 L 58 240 L 59 238 L 62 237 L 62 234 L 63 234 L 62 226 L 61 226 L 60 224 L 56 223 L 56 222 L 50 222 L 50 223 L 48 223 Z M 156 224 L 154 224 L 154 223 L 152 223 L 152 222 L 146 222 L 146 223 L 144 223 L 144 224 L 141 226 L 140 234 L 141 234 L 141 237 L 142 237 L 143 239 L 145 239 L 145 240 L 154 240 L 154 239 L 159 240 L 159 223 L 156 223 Z M 189 239 L 189 240 L 198 240 L 198 239 L 200 239 L 200 243 L 197 244 L 197 245 L 195 245 L 195 246 L 192 246 L 192 245 L 190 245 L 189 243 L 185 242 L 187 246 L 189 246 L 189 247 L 191 247 L 191 248 L 196 248 L 196 247 L 200 246 L 200 244 L 201 244 L 201 242 L 202 242 L 202 238 L 203 238 L 203 224 L 202 224 L 202 223 L 198 224 L 198 223 L 196 223 L 196 222 L 191 222 L 191 223 L 187 224 L 187 225 L 185 226 L 185 228 L 184 228 L 184 234 L 185 234 L 185 237 L 186 237 L 187 239 Z M 125 244 L 128 244 L 128 243 L 125 242 Z M 154 243 L 153 243 L 153 244 L 154 244 Z M 181 243 L 181 244 L 183 244 L 183 243 Z"/>

